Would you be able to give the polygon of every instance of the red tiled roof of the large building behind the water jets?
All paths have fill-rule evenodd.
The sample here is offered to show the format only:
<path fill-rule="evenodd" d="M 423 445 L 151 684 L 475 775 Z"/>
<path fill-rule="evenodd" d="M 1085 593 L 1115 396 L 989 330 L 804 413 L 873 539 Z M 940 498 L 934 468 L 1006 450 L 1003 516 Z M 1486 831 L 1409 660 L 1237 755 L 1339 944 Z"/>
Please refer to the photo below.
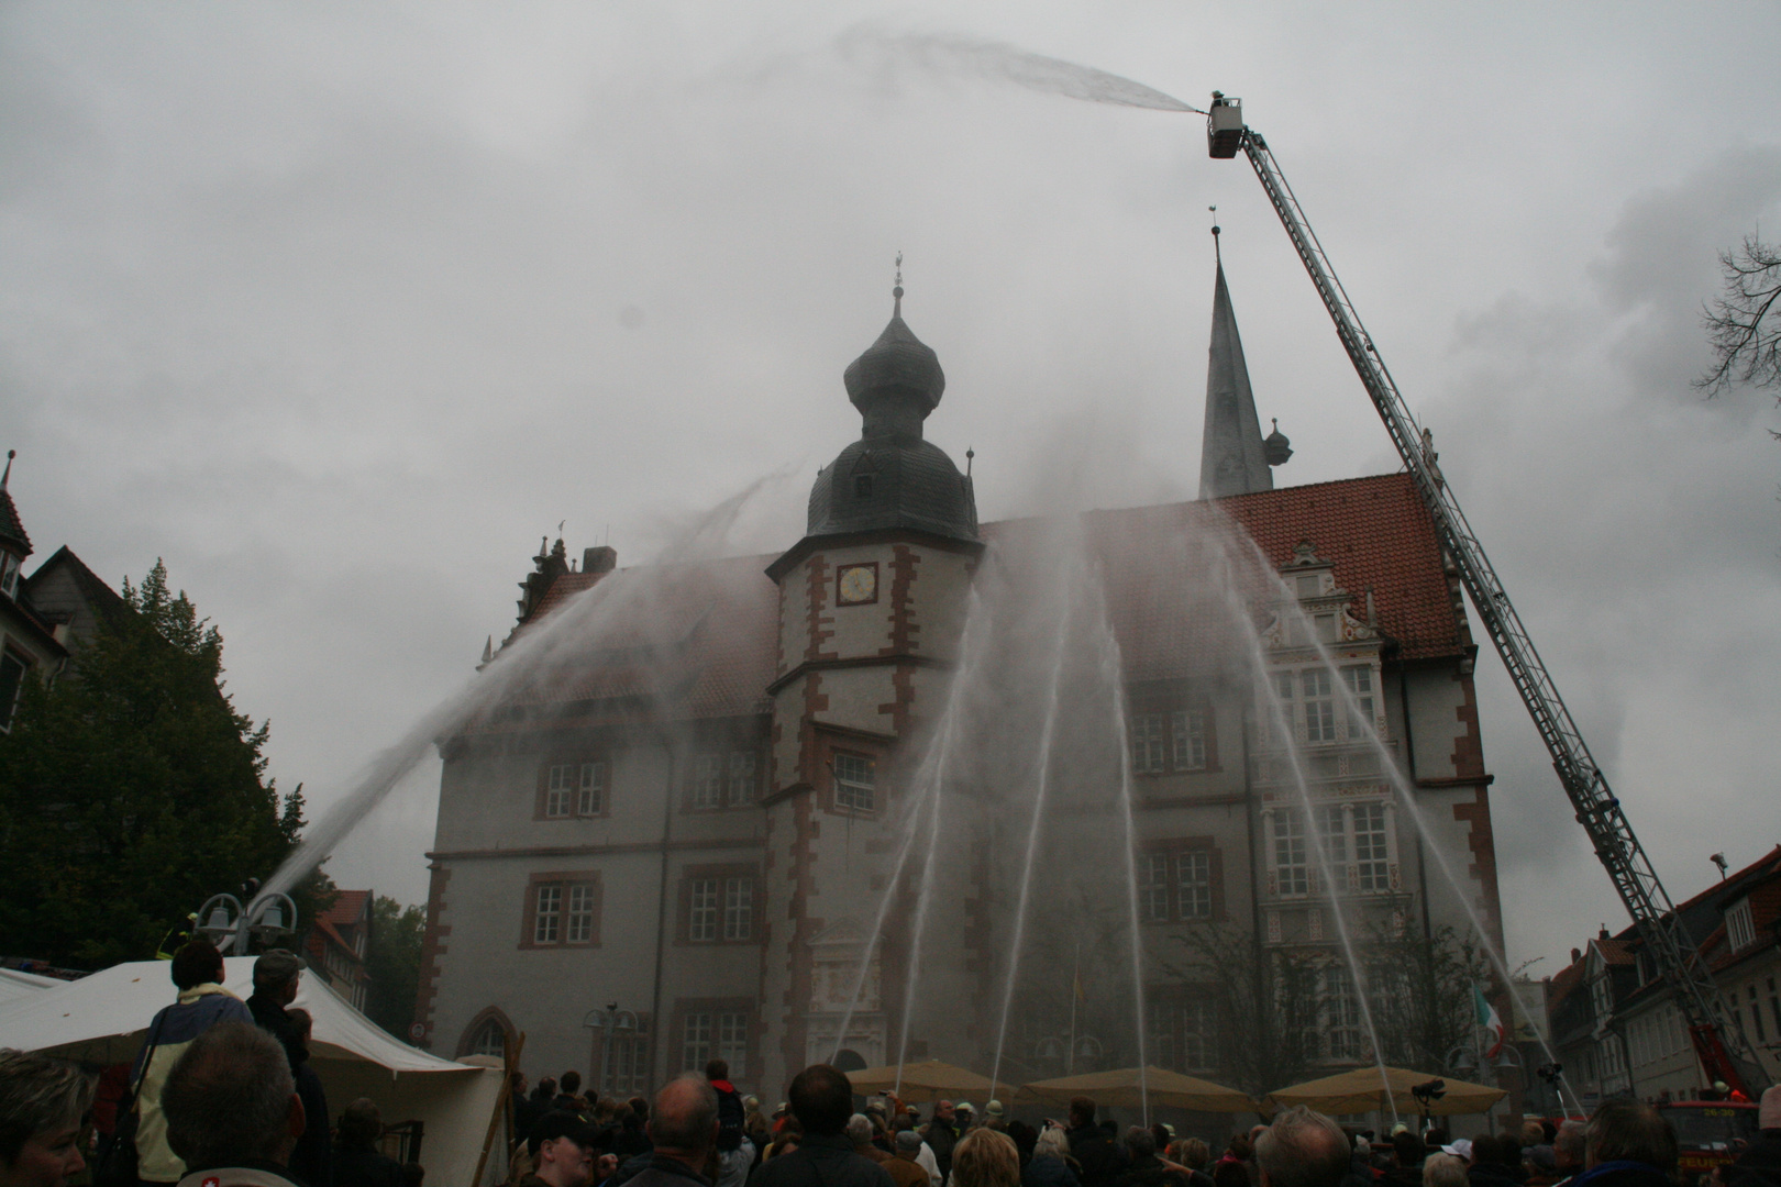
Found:
<path fill-rule="evenodd" d="M 1441 546 L 1405 473 L 1318 482 L 1211 502 L 1184 502 L 1083 518 L 1110 580 L 1110 612 L 1134 682 L 1186 676 L 1227 642 L 1222 607 L 1191 580 L 1208 562 L 1204 543 L 1234 521 L 1270 571 L 1309 543 L 1334 564 L 1336 584 L 1364 619 L 1373 591 L 1378 628 L 1407 658 L 1457 657 L 1469 646 L 1443 568 Z M 985 523 L 981 536 L 1013 539 L 1037 520 Z M 1247 545 L 1245 545 L 1247 546 Z M 595 639 L 550 662 L 509 705 L 588 703 L 606 719 L 636 715 L 663 699 L 677 717 L 727 717 L 768 708 L 778 662 L 778 591 L 764 575 L 773 557 L 563 573 L 515 637 L 545 628 L 590 587 L 614 600 Z M 1252 566 L 1254 568 L 1254 566 Z M 1256 591 L 1263 594 L 1263 591 Z M 590 616 L 593 609 L 590 607 Z M 566 625 L 561 628 L 568 628 Z M 629 705 L 629 708 L 627 708 Z M 531 730 L 538 721 L 490 714 L 476 731 Z"/>

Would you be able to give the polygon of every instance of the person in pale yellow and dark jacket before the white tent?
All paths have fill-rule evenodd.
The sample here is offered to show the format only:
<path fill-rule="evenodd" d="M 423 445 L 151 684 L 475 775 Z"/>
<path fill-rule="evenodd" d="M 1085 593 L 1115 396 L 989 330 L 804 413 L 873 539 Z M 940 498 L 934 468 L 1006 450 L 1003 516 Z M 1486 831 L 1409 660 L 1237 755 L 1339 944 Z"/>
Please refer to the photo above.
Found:
<path fill-rule="evenodd" d="M 167 1073 L 199 1034 L 221 1021 L 253 1025 L 240 998 L 223 988 L 223 954 L 208 940 L 192 940 L 173 954 L 173 986 L 180 997 L 148 1023 L 142 1050 L 130 1068 L 135 1086 L 137 1178 L 144 1183 L 176 1183 L 185 1162 L 167 1144 L 167 1118 L 160 1112 L 160 1089 Z"/>

